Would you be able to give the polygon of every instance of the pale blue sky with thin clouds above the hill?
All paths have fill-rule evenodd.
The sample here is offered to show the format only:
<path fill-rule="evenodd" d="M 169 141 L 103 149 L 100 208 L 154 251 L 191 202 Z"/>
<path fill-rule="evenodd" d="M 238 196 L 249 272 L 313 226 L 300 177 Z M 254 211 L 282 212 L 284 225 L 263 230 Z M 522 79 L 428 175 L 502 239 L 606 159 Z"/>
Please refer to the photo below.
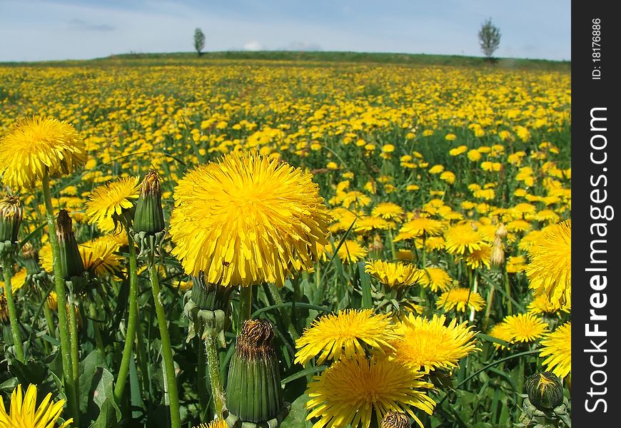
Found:
<path fill-rule="evenodd" d="M 571 59 L 569 0 L 0 0 L 0 61 L 192 51 L 196 27 L 204 51 L 482 56 L 488 18 L 495 56 Z"/>

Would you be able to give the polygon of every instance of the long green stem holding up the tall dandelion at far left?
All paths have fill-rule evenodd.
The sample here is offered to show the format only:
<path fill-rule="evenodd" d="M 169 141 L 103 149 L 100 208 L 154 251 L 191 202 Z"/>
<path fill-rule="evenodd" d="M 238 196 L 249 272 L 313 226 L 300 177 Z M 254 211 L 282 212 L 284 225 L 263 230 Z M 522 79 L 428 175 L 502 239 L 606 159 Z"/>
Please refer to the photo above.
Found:
<path fill-rule="evenodd" d="M 51 204 L 51 193 L 49 188 L 49 174 L 43 176 L 43 194 L 45 199 L 46 220 L 49 230 L 49 243 L 52 250 L 52 260 L 54 266 L 54 285 L 56 286 L 56 301 L 59 307 L 59 335 L 61 339 L 61 360 L 63 363 L 63 381 L 69 417 L 74 418 L 74 424 L 79 426 L 79 407 L 72 375 L 71 364 L 71 342 L 69 341 L 69 325 L 67 322 L 67 297 L 65 294 L 65 280 L 61 272 L 59 238 L 56 236 L 56 223 L 54 222 L 54 208 Z"/>

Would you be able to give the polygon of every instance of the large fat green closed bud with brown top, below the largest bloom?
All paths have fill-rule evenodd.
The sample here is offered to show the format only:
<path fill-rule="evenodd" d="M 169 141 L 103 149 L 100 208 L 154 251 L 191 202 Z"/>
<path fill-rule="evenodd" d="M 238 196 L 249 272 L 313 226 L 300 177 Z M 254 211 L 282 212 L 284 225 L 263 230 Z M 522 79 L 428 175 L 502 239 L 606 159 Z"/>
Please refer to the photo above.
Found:
<path fill-rule="evenodd" d="M 228 371 L 227 408 L 223 413 L 229 427 L 239 421 L 268 422 L 270 427 L 277 427 L 288 414 L 290 405 L 283 406 L 273 338 L 274 329 L 269 321 L 243 322 Z"/>

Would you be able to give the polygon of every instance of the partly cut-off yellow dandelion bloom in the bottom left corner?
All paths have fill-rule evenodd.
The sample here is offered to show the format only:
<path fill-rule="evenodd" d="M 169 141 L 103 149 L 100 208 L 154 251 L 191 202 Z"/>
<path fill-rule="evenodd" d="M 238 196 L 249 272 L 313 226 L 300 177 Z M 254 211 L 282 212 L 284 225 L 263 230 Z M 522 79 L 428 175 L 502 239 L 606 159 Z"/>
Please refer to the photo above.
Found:
<path fill-rule="evenodd" d="M 9 413 L 6 412 L 4 401 L 0 399 L 0 427 L 2 428 L 49 428 L 56 425 L 61 417 L 65 400 L 61 399 L 54 403 L 51 393 L 47 394 L 39 407 L 36 407 L 36 386 L 30 384 L 26 389 L 26 395 L 21 391 L 21 384 L 11 393 L 11 405 Z M 59 428 L 69 427 L 74 422 L 71 418 Z"/>

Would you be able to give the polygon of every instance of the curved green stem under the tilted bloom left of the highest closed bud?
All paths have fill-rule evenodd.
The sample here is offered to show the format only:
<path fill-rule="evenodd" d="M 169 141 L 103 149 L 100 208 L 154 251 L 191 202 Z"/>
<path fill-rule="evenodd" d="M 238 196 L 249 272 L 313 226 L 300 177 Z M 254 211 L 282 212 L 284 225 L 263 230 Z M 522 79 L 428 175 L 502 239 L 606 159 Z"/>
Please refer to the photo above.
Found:
<path fill-rule="evenodd" d="M 123 346 L 123 358 L 121 359 L 121 367 L 118 368 L 118 376 L 114 385 L 114 399 L 117 403 L 121 403 L 123 398 L 123 390 L 127 375 L 129 373 L 129 360 L 132 357 L 131 348 L 133 340 L 136 337 L 136 324 L 138 323 L 138 268 L 136 264 L 136 248 L 133 246 L 133 239 L 129 232 L 129 225 L 123 223 L 127 233 L 127 242 L 129 247 L 129 310 L 127 331 L 125 334 L 125 345 Z"/>

